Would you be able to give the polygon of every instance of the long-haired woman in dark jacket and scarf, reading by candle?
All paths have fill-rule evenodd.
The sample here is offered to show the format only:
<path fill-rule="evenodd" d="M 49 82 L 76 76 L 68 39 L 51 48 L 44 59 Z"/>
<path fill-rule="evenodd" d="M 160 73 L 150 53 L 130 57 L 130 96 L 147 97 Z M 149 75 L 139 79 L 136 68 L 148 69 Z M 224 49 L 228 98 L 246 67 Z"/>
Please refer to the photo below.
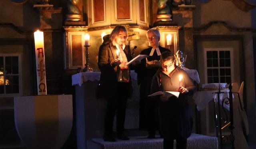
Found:
<path fill-rule="evenodd" d="M 124 120 L 127 98 L 132 95 L 132 83 L 126 63 L 132 60 L 132 54 L 127 45 L 126 28 L 118 25 L 103 39 L 98 67 L 101 71 L 100 85 L 104 90 L 103 97 L 107 100 L 104 141 L 115 141 L 112 135 L 115 114 L 118 139 L 128 140 L 124 135 Z"/>

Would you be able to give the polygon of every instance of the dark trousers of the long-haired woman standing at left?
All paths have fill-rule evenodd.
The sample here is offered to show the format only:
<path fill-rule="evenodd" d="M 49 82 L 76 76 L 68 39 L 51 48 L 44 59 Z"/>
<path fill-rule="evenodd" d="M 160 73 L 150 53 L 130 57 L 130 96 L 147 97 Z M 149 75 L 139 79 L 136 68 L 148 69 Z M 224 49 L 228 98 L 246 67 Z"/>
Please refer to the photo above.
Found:
<path fill-rule="evenodd" d="M 124 120 L 127 97 L 116 97 L 107 99 L 107 110 L 105 117 L 105 136 L 112 136 L 113 122 L 116 115 L 117 135 L 124 133 Z"/>

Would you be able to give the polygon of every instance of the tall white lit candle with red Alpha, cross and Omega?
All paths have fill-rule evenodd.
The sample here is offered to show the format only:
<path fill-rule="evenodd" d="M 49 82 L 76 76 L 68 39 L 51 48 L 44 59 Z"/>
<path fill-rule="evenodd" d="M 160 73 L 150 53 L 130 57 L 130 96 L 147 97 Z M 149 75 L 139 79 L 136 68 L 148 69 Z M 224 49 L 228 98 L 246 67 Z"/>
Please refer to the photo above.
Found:
<path fill-rule="evenodd" d="M 36 50 L 36 78 L 38 95 L 47 95 L 46 90 L 46 70 L 44 60 L 44 32 L 37 30 L 34 32 Z"/>

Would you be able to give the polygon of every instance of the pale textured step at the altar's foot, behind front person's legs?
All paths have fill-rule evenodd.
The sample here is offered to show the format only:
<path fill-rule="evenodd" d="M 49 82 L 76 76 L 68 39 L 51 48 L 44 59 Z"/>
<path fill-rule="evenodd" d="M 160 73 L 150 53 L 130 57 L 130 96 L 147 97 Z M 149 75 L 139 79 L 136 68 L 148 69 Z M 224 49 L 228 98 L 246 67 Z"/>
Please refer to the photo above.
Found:
<path fill-rule="evenodd" d="M 192 134 L 188 138 L 187 149 L 218 149 L 218 138 Z M 163 149 L 163 139 L 147 139 L 146 136 L 130 137 L 130 140 L 104 141 L 102 138 L 88 140 L 87 149 Z M 176 142 L 174 141 L 174 149 Z"/>

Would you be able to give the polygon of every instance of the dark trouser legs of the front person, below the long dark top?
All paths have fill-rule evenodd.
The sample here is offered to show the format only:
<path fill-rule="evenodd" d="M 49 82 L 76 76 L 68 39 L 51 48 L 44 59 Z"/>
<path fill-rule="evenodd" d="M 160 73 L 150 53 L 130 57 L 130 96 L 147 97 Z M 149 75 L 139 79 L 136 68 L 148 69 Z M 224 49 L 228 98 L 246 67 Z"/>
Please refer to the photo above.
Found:
<path fill-rule="evenodd" d="M 173 139 L 164 139 L 164 149 L 173 149 Z M 176 138 L 176 149 L 186 149 L 187 138 Z"/>

